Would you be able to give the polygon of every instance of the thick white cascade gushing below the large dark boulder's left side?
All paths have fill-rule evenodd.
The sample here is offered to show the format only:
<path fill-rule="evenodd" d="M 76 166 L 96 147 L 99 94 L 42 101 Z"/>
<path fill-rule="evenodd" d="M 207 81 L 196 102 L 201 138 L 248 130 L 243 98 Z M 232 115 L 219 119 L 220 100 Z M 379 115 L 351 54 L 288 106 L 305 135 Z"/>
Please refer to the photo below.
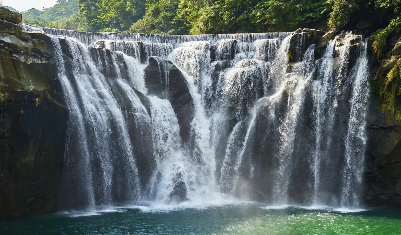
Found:
<path fill-rule="evenodd" d="M 151 97 L 150 102 L 152 135 L 158 162 L 150 181 L 150 193 L 156 200 L 167 202 L 171 194 L 182 194 L 180 190 L 194 193 L 198 185 L 197 170 L 182 149 L 178 119 L 170 102 L 157 97 Z"/>

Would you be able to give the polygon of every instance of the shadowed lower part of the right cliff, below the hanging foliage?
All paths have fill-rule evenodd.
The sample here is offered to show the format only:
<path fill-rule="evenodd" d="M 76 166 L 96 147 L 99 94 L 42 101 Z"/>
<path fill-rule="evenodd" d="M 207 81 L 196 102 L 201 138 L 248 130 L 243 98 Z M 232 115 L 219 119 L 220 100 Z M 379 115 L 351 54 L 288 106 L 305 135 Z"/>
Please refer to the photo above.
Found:
<path fill-rule="evenodd" d="M 373 98 L 368 115 L 365 200 L 377 205 L 401 205 L 401 125 L 382 113 Z"/>

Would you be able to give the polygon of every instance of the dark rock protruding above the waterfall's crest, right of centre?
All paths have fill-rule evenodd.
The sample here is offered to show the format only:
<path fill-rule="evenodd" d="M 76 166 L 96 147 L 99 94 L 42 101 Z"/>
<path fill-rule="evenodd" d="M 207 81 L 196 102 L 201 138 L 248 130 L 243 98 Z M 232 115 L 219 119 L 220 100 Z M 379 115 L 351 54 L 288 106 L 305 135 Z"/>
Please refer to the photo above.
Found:
<path fill-rule="evenodd" d="M 298 29 L 290 39 L 288 48 L 288 62 L 299 62 L 304 57 L 306 49 L 312 44 L 318 43 L 324 35 L 324 31 L 315 29 Z"/>

